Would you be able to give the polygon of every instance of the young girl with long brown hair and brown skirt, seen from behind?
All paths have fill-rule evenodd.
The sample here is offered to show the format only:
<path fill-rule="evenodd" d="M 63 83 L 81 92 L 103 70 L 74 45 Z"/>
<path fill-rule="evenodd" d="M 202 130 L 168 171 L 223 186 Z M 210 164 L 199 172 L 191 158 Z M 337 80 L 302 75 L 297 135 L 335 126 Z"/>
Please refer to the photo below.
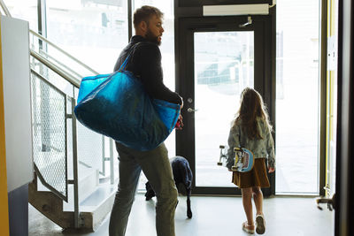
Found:
<path fill-rule="evenodd" d="M 263 215 L 263 194 L 261 187 L 270 187 L 266 176 L 266 159 L 268 172 L 274 171 L 274 144 L 272 126 L 261 95 L 252 88 L 244 88 L 241 94 L 241 107 L 236 113 L 228 136 L 227 169 L 235 163 L 235 147 L 247 148 L 253 152 L 255 163 L 251 171 L 233 172 L 233 183 L 241 188 L 242 204 L 247 221 L 242 223 L 242 230 L 254 233 L 252 202 L 256 205 L 256 232 L 266 231 Z"/>

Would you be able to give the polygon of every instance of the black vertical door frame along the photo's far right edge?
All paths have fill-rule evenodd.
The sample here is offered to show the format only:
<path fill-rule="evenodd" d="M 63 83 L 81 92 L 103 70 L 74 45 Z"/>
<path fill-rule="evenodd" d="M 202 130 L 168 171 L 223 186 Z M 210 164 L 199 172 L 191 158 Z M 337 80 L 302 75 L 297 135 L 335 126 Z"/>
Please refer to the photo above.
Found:
<path fill-rule="evenodd" d="M 354 78 L 353 78 L 353 12 L 351 0 L 338 6 L 338 125 L 335 176 L 335 236 L 354 234 Z"/>

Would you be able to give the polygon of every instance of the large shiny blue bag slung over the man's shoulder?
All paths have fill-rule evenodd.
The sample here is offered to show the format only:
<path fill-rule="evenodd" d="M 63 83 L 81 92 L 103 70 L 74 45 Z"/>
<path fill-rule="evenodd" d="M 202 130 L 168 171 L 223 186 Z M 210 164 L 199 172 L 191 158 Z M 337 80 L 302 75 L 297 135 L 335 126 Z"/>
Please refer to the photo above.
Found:
<path fill-rule="evenodd" d="M 151 99 L 132 72 L 85 77 L 74 112 L 82 125 L 102 133 L 128 148 L 157 148 L 173 131 L 180 105 Z"/>

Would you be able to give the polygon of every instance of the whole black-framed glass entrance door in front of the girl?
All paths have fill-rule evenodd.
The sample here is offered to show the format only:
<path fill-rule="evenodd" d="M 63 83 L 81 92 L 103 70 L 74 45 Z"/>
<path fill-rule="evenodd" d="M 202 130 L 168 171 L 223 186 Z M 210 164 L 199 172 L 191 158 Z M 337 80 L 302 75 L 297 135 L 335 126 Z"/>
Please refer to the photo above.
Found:
<path fill-rule="evenodd" d="M 184 128 L 177 132 L 177 155 L 189 159 L 193 194 L 240 194 L 232 173 L 219 166 L 243 88 L 265 97 L 265 19 L 246 17 L 182 19 L 177 88 L 184 98 Z M 270 54 L 268 55 L 270 57 Z M 269 59 L 269 62 L 271 60 Z M 268 69 L 268 72 L 271 70 Z M 268 98 L 269 95 L 266 95 Z"/>

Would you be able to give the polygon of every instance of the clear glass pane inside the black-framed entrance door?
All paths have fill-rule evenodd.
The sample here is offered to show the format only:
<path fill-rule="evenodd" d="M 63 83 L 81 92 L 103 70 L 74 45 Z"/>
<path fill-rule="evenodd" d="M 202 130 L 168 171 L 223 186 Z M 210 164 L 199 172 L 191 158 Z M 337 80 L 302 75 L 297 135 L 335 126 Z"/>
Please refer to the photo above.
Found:
<path fill-rule="evenodd" d="M 216 161 L 242 89 L 253 88 L 253 62 L 253 31 L 194 33 L 196 187 L 234 186 Z"/>

